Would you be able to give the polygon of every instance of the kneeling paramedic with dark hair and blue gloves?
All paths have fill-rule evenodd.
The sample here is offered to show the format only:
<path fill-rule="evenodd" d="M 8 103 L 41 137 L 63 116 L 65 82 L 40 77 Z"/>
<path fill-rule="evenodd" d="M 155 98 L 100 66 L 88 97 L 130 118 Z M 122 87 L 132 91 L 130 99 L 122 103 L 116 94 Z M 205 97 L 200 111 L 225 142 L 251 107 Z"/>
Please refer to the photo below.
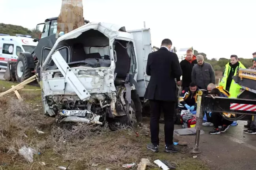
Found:
<path fill-rule="evenodd" d="M 181 110 L 196 110 L 198 87 L 191 82 L 189 88 L 185 88 L 179 97 L 178 108 Z"/>

